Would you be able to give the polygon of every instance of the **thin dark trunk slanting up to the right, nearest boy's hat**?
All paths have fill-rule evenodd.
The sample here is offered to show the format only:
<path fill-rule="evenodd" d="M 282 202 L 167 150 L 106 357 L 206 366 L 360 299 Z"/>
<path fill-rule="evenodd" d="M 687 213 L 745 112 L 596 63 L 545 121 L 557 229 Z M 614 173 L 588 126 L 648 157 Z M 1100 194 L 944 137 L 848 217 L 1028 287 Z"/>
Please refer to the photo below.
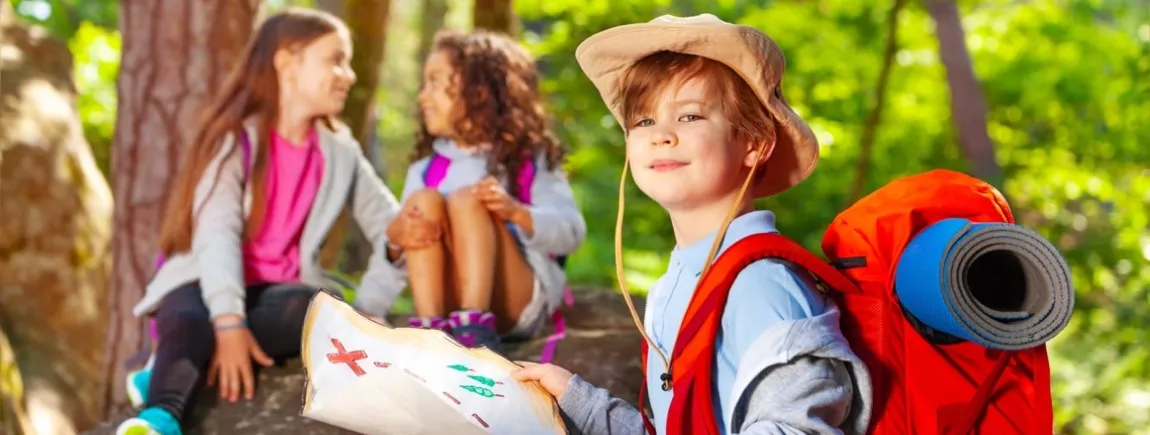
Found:
<path fill-rule="evenodd" d="M 882 109 L 887 102 L 887 83 L 890 82 L 890 70 L 895 66 L 895 54 L 898 53 L 898 13 L 903 10 L 906 0 L 895 0 L 887 14 L 887 47 L 882 53 L 882 69 L 879 70 L 879 84 L 874 89 L 874 107 L 867 115 L 862 127 L 862 138 L 859 142 L 859 162 L 854 168 L 854 186 L 851 188 L 850 203 L 859 200 L 866 192 L 866 177 L 871 171 L 871 159 L 874 153 L 874 138 L 882 123 Z"/>

